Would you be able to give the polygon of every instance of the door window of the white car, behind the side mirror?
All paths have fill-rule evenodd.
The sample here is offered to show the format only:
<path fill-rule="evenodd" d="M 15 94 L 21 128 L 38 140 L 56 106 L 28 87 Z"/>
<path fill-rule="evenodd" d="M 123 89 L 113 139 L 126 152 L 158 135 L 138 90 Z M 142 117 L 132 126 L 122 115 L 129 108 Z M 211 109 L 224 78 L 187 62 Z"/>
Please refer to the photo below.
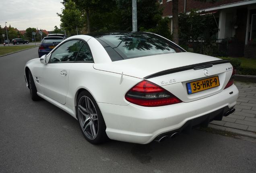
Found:
<path fill-rule="evenodd" d="M 82 41 L 79 40 L 70 40 L 59 46 L 54 52 L 49 62 L 69 62 L 74 61 L 77 53 L 79 52 L 81 46 L 83 45 Z"/>

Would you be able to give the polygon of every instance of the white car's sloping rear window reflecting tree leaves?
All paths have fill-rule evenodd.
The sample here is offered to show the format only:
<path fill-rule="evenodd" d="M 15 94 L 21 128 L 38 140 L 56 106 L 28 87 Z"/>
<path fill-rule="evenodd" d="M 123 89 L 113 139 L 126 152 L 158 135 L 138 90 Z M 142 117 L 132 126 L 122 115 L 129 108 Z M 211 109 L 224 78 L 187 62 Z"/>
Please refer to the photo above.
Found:
<path fill-rule="evenodd" d="M 146 32 L 110 33 L 98 38 L 111 46 L 122 59 L 184 52 L 173 42 Z M 109 51 L 107 52 L 109 53 Z M 117 58 L 111 58 L 111 60 L 115 61 Z"/>

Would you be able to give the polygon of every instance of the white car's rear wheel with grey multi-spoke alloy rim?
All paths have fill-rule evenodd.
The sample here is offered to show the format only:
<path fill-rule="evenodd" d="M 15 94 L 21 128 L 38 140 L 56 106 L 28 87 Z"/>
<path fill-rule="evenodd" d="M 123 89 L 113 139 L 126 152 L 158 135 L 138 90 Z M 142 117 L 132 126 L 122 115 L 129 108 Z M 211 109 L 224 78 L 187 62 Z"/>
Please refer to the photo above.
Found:
<path fill-rule="evenodd" d="M 93 96 L 88 91 L 82 91 L 77 97 L 76 105 L 78 124 L 85 139 L 92 144 L 106 142 L 108 137 L 105 121 Z"/>

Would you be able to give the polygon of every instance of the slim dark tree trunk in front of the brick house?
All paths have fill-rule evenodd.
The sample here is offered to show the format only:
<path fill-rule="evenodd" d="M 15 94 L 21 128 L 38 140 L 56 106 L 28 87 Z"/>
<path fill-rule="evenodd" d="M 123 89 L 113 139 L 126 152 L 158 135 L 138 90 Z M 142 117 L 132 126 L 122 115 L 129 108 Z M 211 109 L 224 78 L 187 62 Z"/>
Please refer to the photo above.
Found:
<path fill-rule="evenodd" d="M 179 0 L 172 1 L 172 32 L 173 42 L 179 44 L 179 22 L 178 22 Z"/>

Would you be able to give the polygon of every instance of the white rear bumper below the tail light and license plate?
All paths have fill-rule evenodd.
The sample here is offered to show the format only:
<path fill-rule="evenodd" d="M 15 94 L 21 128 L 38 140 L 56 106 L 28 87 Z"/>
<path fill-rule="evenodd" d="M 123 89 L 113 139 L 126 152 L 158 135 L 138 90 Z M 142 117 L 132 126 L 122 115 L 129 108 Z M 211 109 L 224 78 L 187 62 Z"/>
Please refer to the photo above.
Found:
<path fill-rule="evenodd" d="M 200 124 L 208 118 L 209 121 L 218 117 L 221 119 L 226 109 L 235 106 L 237 97 L 238 90 L 232 85 L 211 97 L 162 107 L 141 107 L 132 103 L 127 106 L 107 103 L 98 105 L 110 139 L 146 144 L 164 133 L 182 130 L 186 122 L 193 119 L 193 123 L 188 124 Z M 204 115 L 206 118 L 199 118 L 198 123 L 197 118 Z"/>

